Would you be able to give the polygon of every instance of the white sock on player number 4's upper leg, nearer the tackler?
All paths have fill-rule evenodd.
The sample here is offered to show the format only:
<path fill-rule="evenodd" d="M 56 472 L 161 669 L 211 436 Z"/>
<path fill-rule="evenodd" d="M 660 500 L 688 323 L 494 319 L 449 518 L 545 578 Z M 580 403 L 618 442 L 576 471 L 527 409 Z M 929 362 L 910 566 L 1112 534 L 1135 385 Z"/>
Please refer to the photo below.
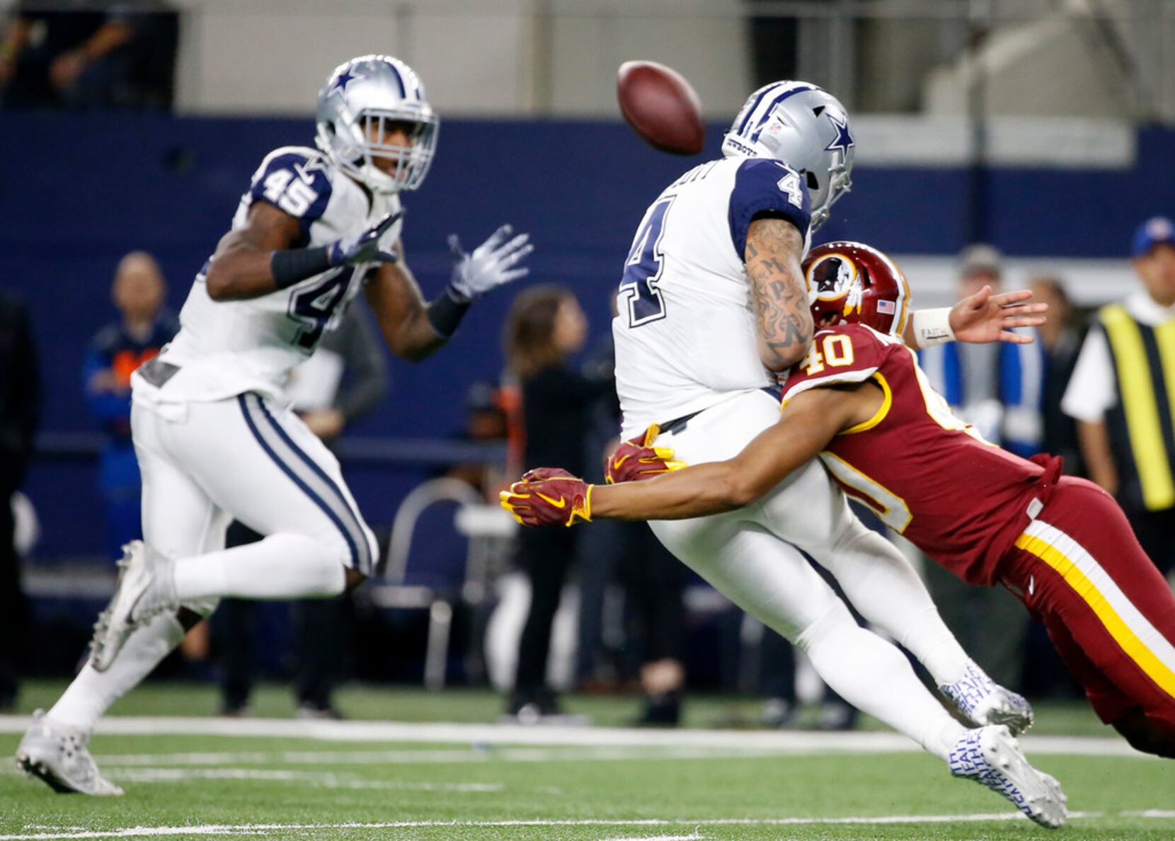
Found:
<path fill-rule="evenodd" d="M 942 621 L 922 579 L 892 543 L 857 524 L 838 541 L 834 554 L 827 564 L 819 560 L 866 621 L 905 646 L 936 685 L 962 677 L 971 658 Z"/>

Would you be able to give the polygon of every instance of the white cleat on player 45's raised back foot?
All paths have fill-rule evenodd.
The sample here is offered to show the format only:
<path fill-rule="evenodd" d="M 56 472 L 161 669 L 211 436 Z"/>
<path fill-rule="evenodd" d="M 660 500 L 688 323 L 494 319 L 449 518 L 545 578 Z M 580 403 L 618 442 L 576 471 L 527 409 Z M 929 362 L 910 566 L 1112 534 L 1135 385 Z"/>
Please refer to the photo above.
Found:
<path fill-rule="evenodd" d="M 89 644 L 89 662 L 105 672 L 122 651 L 127 637 L 148 619 L 180 606 L 175 596 L 175 563 L 142 540 L 122 547 L 119 583 L 110 604 L 94 623 Z"/>

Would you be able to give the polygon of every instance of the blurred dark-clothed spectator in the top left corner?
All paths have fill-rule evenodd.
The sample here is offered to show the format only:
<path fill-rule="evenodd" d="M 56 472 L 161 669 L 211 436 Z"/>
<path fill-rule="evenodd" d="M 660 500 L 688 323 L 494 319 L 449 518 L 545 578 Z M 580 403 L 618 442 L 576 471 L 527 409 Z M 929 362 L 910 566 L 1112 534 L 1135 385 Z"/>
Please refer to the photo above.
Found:
<path fill-rule="evenodd" d="M 166 108 L 177 20 L 161 0 L 20 0 L 0 42 L 7 108 Z"/>

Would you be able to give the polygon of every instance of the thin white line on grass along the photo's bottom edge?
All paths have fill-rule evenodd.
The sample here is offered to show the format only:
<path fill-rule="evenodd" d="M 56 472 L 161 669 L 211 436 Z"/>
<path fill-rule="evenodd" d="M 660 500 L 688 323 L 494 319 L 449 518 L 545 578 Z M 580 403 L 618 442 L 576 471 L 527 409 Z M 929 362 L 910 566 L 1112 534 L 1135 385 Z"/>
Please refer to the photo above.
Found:
<path fill-rule="evenodd" d="M 1149 816 L 1148 813 L 1130 813 L 1135 818 Z M 1101 812 L 1070 812 L 1069 820 L 1083 818 L 1102 818 Z M 781 827 L 812 825 L 902 825 L 902 823 L 976 823 L 983 821 L 1027 820 L 1018 812 L 1000 812 L 992 814 L 966 815 L 873 815 L 860 818 L 714 818 L 709 820 L 502 820 L 502 821 L 385 821 L 378 823 L 214 823 L 204 826 L 176 827 L 127 827 L 125 829 L 94 829 L 67 833 L 34 833 L 20 835 L 0 835 L 0 841 L 48 841 L 49 839 L 120 839 L 120 837 L 161 837 L 169 835 L 257 835 L 267 832 L 321 832 L 330 829 L 423 829 L 431 827 L 676 827 L 692 826 L 723 827 Z M 697 829 L 694 835 L 697 835 Z M 690 836 L 686 836 L 690 837 Z"/>

